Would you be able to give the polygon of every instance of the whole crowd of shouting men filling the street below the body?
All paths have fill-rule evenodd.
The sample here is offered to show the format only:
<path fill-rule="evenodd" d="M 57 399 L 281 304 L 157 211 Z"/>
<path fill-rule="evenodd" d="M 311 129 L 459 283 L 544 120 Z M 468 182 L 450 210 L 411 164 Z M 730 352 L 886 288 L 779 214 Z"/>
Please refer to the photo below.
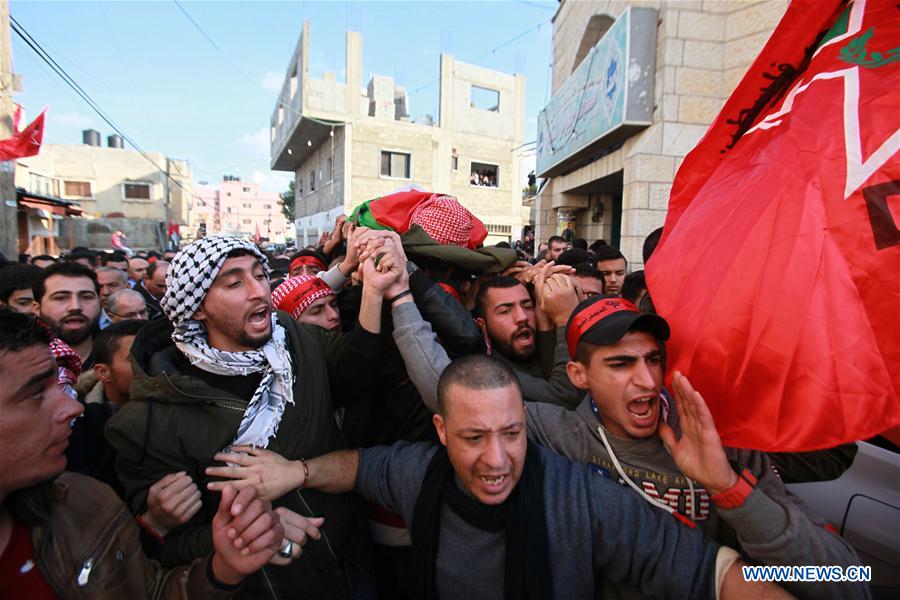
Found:
<path fill-rule="evenodd" d="M 468 225 L 451 208 L 432 238 Z M 212 236 L 0 267 L 0 589 L 867 597 L 741 571 L 860 564 L 785 488 L 855 447 L 723 447 L 702 390 L 663 386 L 643 272 L 566 237 L 482 272 L 344 219 L 292 255 Z"/>

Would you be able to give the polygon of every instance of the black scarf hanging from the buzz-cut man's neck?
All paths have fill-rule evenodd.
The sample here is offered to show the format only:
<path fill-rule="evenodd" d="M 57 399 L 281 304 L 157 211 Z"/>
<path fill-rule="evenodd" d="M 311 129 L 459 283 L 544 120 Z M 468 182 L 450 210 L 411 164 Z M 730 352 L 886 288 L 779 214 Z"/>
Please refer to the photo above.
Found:
<path fill-rule="evenodd" d="M 461 519 L 485 531 L 506 531 L 503 598 L 553 598 L 547 518 L 544 506 L 544 462 L 537 446 L 528 442 L 518 485 L 503 504 L 487 506 L 462 492 L 454 481 L 447 449 L 435 453 L 413 510 L 413 597 L 438 597 L 436 574 L 441 533 L 441 504 L 446 500 Z M 527 550 L 527 551 L 526 551 Z M 471 557 L 477 560 L 477 557 Z"/>

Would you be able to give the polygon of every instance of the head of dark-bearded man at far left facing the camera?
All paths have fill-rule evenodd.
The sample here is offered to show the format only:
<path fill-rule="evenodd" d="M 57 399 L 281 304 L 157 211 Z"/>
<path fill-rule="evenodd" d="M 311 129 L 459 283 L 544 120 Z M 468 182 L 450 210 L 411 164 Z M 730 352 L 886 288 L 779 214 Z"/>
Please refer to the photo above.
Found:
<path fill-rule="evenodd" d="M 41 319 L 78 353 L 82 370 L 93 367 L 91 351 L 100 319 L 97 275 L 78 263 L 56 263 L 44 269 L 32 291 Z"/>

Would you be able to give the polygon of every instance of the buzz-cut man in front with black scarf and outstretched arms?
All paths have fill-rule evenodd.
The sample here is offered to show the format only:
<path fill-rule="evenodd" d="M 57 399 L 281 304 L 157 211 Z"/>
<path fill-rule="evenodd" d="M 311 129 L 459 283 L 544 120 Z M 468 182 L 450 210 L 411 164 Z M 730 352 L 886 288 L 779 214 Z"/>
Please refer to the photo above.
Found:
<path fill-rule="evenodd" d="M 515 375 L 483 355 L 441 374 L 440 445 L 397 442 L 285 460 L 237 447 L 208 470 L 276 498 L 297 485 L 363 498 L 411 525 L 411 596 L 597 598 L 606 581 L 653 598 L 789 597 L 744 580 L 737 553 L 579 464 L 529 442 Z M 226 482 L 213 482 L 222 488 Z"/>

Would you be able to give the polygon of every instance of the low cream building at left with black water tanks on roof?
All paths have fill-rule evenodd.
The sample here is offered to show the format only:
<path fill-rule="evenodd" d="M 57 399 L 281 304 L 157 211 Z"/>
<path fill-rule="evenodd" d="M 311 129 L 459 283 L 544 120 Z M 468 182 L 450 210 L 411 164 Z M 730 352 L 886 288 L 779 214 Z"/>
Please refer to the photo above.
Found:
<path fill-rule="evenodd" d="M 92 235 L 65 236 L 75 245 L 106 247 L 109 233 L 121 228 L 131 247 L 159 248 L 167 222 L 188 224 L 195 194 L 187 161 L 158 152 L 148 152 L 148 160 L 124 148 L 117 135 L 107 141 L 107 147 L 101 146 L 99 132 L 86 130 L 81 145 L 44 144 L 36 156 L 17 161 L 16 186 L 77 202 L 92 221 L 85 225 Z"/>

